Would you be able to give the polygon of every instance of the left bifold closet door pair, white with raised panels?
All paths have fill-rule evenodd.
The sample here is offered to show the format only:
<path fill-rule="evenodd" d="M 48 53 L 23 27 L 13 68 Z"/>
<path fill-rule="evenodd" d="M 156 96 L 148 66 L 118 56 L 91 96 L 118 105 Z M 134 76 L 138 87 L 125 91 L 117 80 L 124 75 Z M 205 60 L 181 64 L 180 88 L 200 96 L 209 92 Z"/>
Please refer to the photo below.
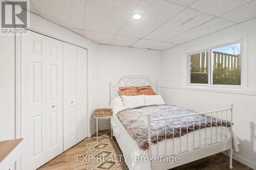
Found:
<path fill-rule="evenodd" d="M 22 37 L 22 164 L 26 170 L 63 151 L 62 48 L 61 41 L 32 31 Z"/>

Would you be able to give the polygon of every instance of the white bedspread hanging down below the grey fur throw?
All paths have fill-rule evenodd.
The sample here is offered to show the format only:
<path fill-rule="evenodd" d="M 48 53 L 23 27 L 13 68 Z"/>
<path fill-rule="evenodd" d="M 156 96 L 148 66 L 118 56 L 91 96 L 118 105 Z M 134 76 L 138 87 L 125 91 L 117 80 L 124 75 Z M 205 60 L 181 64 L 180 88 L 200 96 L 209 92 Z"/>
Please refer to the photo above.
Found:
<path fill-rule="evenodd" d="M 123 127 L 122 123 L 116 116 L 116 114 L 113 114 L 113 119 L 112 119 L 112 128 L 113 128 L 113 135 L 115 136 L 119 147 L 121 148 L 123 155 L 127 156 L 127 159 L 125 160 L 125 163 L 129 167 L 130 170 L 135 170 L 135 169 L 151 169 L 150 162 L 136 162 L 135 161 L 135 155 L 139 156 L 147 156 L 147 150 L 141 150 L 139 149 L 139 146 L 137 145 L 136 141 L 130 136 L 130 134 L 125 130 Z M 206 129 L 206 145 L 210 145 L 212 140 L 212 143 L 216 142 L 216 127 L 212 128 L 212 131 L 210 132 L 210 128 Z M 221 133 L 222 133 L 222 138 L 221 138 Z M 195 148 L 199 148 L 199 144 L 201 144 L 201 147 L 205 146 L 205 129 L 201 129 L 200 132 L 201 135 L 201 142 L 199 140 L 199 131 L 195 131 Z M 212 138 L 211 138 L 212 137 Z M 235 151 L 238 149 L 237 144 L 239 144 L 237 138 L 234 136 L 234 141 L 233 144 L 236 146 L 234 147 Z M 217 128 L 217 140 L 218 142 L 221 141 L 221 139 L 230 139 L 230 133 L 228 130 L 228 133 L 226 131 L 225 127 L 222 127 L 222 132 L 221 132 L 221 127 Z M 186 152 L 187 151 L 187 138 L 186 135 L 181 136 L 181 152 Z M 173 155 L 173 139 L 167 139 L 166 140 L 166 145 L 167 145 L 167 156 L 172 156 Z M 180 138 L 175 138 L 174 139 L 174 153 L 179 154 L 180 153 Z M 159 142 L 158 146 L 158 153 L 159 156 L 165 156 L 165 142 L 161 141 Z M 193 150 L 193 132 L 188 134 L 188 151 Z M 152 150 L 151 150 L 152 155 L 157 155 L 157 145 L 152 145 Z"/>

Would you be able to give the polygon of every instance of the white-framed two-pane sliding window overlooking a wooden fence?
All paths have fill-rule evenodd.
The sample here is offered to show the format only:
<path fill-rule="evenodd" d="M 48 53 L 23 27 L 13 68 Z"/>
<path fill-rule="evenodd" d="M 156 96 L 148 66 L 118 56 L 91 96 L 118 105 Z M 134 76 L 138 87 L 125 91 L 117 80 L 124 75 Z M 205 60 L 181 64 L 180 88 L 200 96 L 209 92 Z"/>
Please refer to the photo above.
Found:
<path fill-rule="evenodd" d="M 189 55 L 189 83 L 241 85 L 241 43 Z"/>

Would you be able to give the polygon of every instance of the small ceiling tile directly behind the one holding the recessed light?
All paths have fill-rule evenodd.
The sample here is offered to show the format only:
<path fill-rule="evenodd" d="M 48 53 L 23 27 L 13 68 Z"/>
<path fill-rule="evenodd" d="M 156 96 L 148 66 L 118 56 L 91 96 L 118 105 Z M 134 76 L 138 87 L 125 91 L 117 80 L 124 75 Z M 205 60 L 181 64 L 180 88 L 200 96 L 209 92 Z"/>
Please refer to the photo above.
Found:
<path fill-rule="evenodd" d="M 121 35 L 116 35 L 110 42 L 110 45 L 118 45 L 118 46 L 131 46 L 135 42 L 137 42 L 139 38 L 134 37 L 126 37 Z"/>

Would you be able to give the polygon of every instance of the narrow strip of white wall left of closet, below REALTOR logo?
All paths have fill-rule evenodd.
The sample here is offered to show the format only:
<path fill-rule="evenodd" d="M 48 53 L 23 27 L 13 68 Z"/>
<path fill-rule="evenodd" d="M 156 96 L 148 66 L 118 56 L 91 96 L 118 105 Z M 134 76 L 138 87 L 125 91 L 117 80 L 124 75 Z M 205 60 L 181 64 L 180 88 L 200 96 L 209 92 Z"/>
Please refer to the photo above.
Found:
<path fill-rule="evenodd" d="M 14 36 L 0 38 L 0 140 L 14 138 Z"/>

